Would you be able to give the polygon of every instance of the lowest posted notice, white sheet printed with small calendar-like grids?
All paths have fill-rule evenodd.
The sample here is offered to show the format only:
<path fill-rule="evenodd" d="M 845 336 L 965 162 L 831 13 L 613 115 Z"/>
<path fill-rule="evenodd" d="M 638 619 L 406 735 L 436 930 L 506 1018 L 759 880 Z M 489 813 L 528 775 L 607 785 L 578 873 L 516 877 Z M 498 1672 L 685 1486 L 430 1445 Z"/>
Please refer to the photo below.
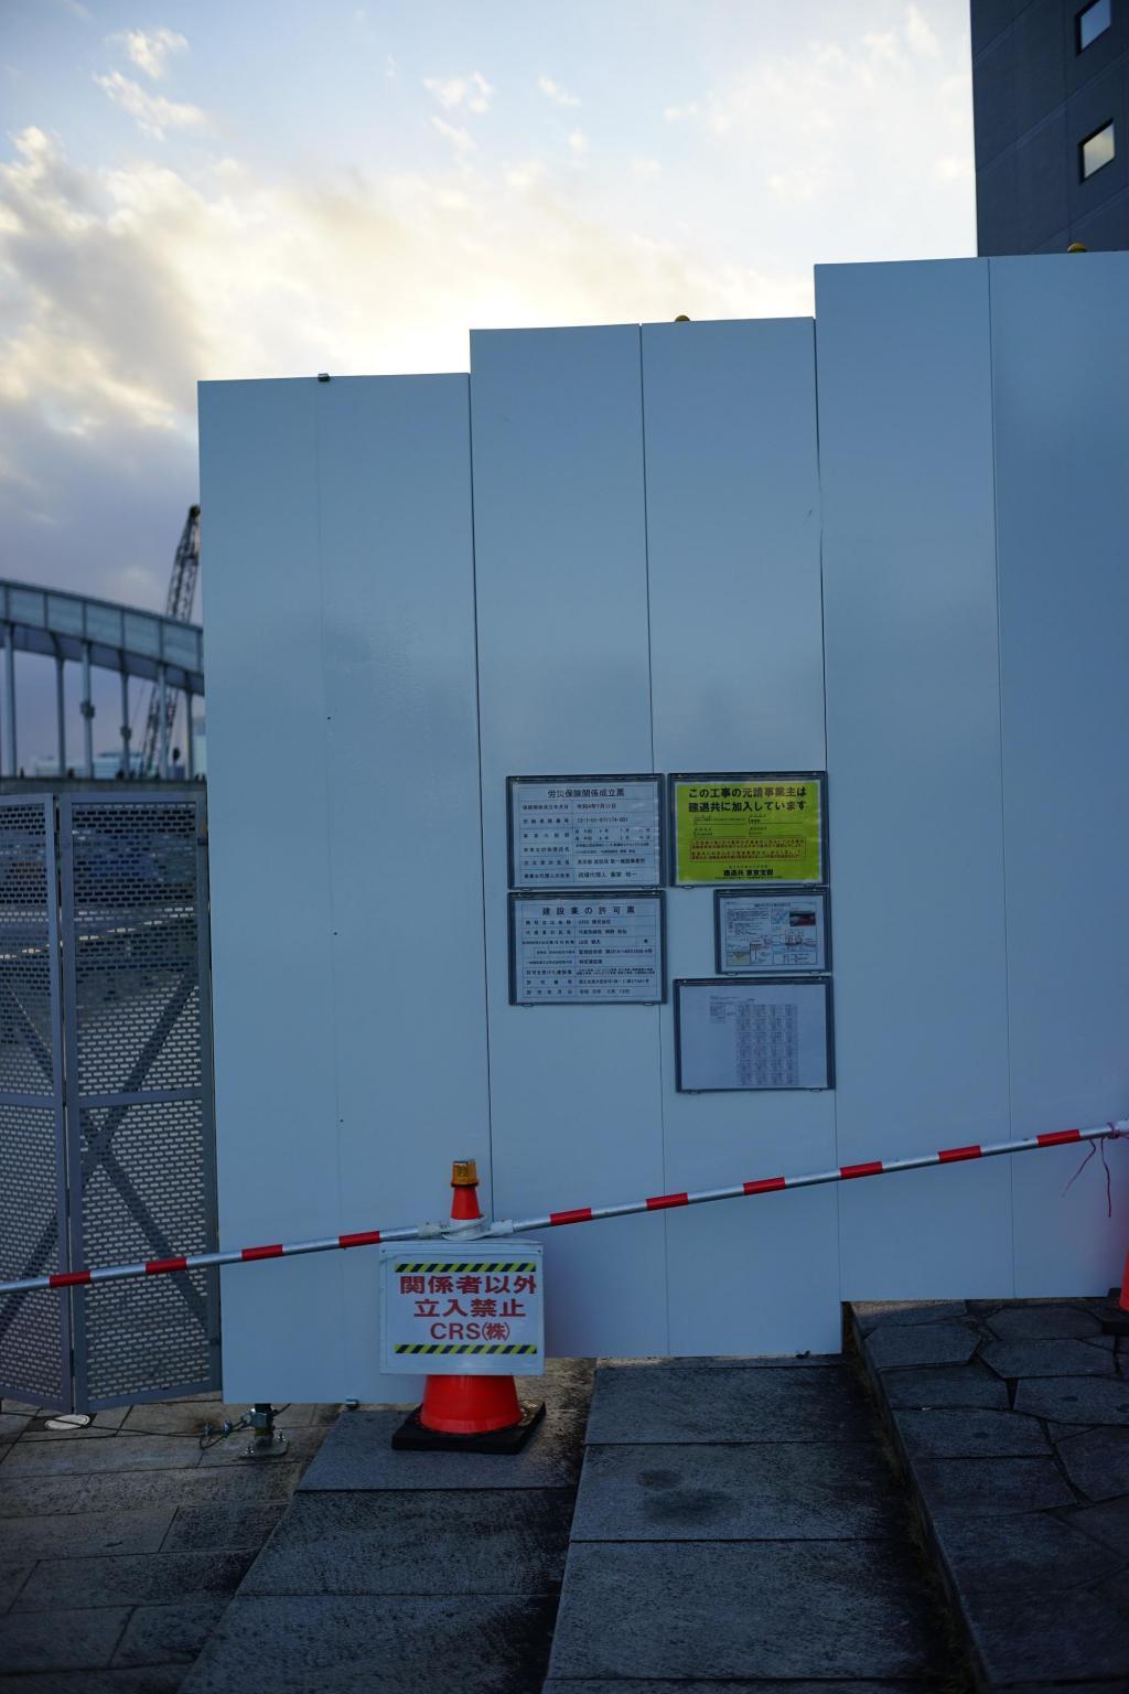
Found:
<path fill-rule="evenodd" d="M 833 1088 L 826 979 L 682 981 L 674 996 L 680 1093 Z"/>

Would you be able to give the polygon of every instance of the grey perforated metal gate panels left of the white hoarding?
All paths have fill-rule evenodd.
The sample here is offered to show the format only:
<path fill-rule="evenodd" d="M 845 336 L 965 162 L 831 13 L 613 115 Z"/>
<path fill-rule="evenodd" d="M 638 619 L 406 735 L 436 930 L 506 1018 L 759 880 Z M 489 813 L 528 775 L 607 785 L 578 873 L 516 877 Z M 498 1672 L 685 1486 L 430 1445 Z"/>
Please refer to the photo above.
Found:
<path fill-rule="evenodd" d="M 0 1267 L 215 1247 L 203 793 L 0 803 Z M 15 1296 L 0 1392 L 218 1386 L 217 1272 Z"/>

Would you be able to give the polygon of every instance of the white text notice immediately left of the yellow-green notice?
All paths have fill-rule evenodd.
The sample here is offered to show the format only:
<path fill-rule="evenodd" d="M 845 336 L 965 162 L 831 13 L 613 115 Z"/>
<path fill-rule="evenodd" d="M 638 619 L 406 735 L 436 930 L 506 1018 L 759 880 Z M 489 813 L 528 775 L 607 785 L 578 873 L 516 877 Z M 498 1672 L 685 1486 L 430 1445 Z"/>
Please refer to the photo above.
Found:
<path fill-rule="evenodd" d="M 511 776 L 511 888 L 660 888 L 660 776 Z"/>

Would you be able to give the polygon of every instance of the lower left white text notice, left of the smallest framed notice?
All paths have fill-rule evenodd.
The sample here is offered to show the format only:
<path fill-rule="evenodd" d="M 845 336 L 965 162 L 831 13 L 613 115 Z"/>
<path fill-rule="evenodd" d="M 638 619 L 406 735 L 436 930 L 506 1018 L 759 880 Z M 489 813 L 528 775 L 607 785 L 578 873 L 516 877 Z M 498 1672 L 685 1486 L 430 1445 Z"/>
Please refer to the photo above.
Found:
<path fill-rule="evenodd" d="M 664 894 L 509 896 L 509 1005 L 643 1005 L 665 998 Z"/>

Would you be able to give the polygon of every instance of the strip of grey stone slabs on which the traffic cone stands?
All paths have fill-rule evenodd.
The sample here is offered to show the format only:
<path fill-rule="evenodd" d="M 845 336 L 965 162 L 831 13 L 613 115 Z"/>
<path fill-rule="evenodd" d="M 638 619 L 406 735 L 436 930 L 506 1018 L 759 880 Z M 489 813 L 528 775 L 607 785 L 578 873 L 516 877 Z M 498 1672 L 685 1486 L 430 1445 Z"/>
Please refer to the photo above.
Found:
<path fill-rule="evenodd" d="M 518 1455 L 399 1453 L 403 1411 L 342 1413 L 181 1694 L 537 1694 L 592 1367 L 520 1379 Z"/>

